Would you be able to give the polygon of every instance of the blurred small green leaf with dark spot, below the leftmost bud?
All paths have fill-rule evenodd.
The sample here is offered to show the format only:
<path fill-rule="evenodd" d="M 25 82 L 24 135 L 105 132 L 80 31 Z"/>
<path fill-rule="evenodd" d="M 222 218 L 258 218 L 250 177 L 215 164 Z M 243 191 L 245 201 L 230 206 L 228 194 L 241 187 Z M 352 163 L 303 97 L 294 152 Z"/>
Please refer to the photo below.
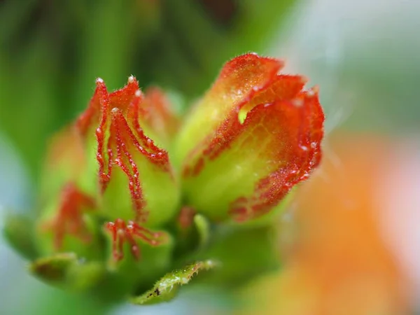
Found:
<path fill-rule="evenodd" d="M 78 259 L 75 253 L 40 258 L 29 265 L 29 270 L 39 279 L 69 290 L 91 288 L 105 272 L 99 262 L 85 262 Z"/>

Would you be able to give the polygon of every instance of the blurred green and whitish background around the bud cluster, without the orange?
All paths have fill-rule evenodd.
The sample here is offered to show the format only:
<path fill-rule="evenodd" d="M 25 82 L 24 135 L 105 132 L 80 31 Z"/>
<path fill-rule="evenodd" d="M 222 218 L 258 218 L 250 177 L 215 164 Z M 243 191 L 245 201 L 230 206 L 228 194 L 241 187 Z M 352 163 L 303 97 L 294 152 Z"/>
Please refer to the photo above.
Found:
<path fill-rule="evenodd" d="M 188 106 L 224 62 L 248 51 L 284 58 L 286 71 L 320 85 L 328 133 L 370 132 L 418 146 L 419 12 L 416 0 L 2 0 L 0 209 L 34 206 L 48 137 L 83 111 L 95 78 L 113 90 L 132 74 Z M 1 244 L 0 314 L 107 312 L 24 268 Z M 211 296 L 112 312 L 204 314 L 207 305 L 212 314 L 229 304 Z"/>

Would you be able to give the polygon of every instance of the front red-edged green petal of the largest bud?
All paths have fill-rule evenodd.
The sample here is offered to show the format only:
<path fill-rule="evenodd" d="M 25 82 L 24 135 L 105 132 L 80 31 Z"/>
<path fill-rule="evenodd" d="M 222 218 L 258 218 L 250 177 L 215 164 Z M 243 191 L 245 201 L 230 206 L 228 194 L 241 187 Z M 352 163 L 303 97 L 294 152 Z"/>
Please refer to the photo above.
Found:
<path fill-rule="evenodd" d="M 230 214 L 244 221 L 265 214 L 296 183 L 307 179 L 321 158 L 324 117 L 317 90 L 300 92 L 304 81 L 300 76 L 276 76 L 271 85 L 240 105 L 242 110 L 248 108 L 243 124 L 238 119 L 240 109 L 230 111 L 186 160 L 183 176 L 188 193 L 193 193 L 196 182 L 203 181 L 203 194 L 213 188 L 216 191 L 223 175 L 212 179 L 211 173 L 226 172 L 232 178 L 223 183 L 223 189 L 229 191 L 217 195 L 218 207 L 225 198 L 232 198 L 226 200 L 230 202 Z M 222 154 L 221 160 L 228 161 L 228 165 L 217 162 Z M 221 169 L 223 166 L 247 169 L 239 174 Z M 235 195 L 239 189 L 232 185 L 243 186 L 243 195 Z M 200 191 L 196 194 L 200 195 Z M 189 198 L 197 209 L 206 207 L 202 202 L 207 197 Z"/>

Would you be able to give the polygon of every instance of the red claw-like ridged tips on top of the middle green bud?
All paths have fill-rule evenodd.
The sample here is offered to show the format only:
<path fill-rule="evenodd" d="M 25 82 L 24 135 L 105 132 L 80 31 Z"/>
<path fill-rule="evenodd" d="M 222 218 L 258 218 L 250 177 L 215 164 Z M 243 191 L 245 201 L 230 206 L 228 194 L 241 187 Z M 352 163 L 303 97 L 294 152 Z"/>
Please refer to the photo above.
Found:
<path fill-rule="evenodd" d="M 137 165 L 139 160 L 146 158 L 160 170 L 170 170 L 167 152 L 155 146 L 140 127 L 139 111 L 143 99 L 139 83 L 132 76 L 125 87 L 111 94 L 107 92 L 104 81 L 97 79 L 97 88 L 90 106 L 77 123 L 86 139 L 96 127 L 102 194 L 111 181 L 113 167 L 120 167 L 128 179 L 136 220 L 141 220 L 146 214 L 143 211 L 146 202 Z"/>

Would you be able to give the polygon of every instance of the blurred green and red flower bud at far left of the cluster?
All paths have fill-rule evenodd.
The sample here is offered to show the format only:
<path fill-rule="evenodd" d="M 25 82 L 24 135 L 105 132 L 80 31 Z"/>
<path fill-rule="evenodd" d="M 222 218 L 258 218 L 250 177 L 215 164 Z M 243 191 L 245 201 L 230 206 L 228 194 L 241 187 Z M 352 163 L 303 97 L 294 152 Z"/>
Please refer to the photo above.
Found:
<path fill-rule="evenodd" d="M 59 132 L 48 148 L 41 181 L 36 245 L 41 255 L 73 252 L 99 258 L 99 226 L 94 220 L 97 186 L 87 167 L 83 139 L 74 126 Z"/>

